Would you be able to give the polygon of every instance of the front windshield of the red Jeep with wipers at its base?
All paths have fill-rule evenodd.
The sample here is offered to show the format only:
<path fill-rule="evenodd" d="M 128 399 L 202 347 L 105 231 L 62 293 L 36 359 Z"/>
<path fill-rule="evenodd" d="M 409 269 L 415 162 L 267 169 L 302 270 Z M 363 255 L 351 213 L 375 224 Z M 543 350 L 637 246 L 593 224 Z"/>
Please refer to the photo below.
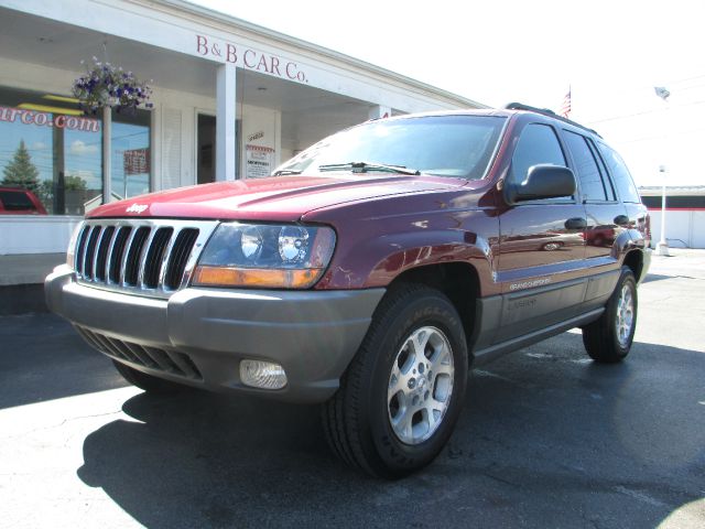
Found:
<path fill-rule="evenodd" d="M 479 180 L 487 172 L 505 121 L 496 116 L 371 121 L 319 141 L 276 168 L 274 174 L 419 171 Z"/>

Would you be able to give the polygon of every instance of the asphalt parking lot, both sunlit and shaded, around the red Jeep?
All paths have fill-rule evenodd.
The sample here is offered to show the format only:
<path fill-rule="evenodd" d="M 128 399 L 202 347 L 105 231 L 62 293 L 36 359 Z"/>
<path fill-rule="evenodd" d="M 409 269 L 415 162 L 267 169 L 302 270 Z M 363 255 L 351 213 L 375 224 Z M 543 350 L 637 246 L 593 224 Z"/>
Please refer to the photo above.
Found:
<path fill-rule="evenodd" d="M 628 360 L 565 333 L 476 370 L 449 445 L 379 482 L 316 407 L 148 397 L 50 314 L 0 317 L 0 525 L 705 527 L 705 250 L 654 258 Z"/>

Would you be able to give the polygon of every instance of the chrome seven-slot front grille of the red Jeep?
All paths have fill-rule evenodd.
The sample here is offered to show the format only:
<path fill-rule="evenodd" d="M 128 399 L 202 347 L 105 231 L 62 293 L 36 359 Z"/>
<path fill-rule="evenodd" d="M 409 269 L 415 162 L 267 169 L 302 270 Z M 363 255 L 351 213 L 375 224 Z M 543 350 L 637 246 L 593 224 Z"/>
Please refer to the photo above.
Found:
<path fill-rule="evenodd" d="M 166 298 L 188 283 L 216 222 L 87 220 L 76 241 L 78 282 Z"/>

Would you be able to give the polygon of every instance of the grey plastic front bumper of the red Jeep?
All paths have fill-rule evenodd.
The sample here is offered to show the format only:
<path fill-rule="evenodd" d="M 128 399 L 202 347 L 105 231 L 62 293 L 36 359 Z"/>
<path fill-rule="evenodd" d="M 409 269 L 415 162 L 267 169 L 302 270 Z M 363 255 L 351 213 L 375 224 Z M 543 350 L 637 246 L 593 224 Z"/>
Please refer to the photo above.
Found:
<path fill-rule="evenodd" d="M 267 291 L 187 288 L 167 300 L 86 287 L 66 264 L 45 281 L 46 303 L 111 358 L 209 390 L 322 402 L 338 388 L 384 289 Z M 283 366 L 288 385 L 240 381 L 242 359 Z"/>

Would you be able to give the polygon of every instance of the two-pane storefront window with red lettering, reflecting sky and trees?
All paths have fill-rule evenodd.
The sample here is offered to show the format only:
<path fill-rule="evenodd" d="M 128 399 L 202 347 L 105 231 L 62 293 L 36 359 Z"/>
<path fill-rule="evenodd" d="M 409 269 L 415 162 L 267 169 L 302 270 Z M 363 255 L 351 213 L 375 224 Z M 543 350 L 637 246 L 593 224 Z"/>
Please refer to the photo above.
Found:
<path fill-rule="evenodd" d="M 112 199 L 150 191 L 151 115 L 112 112 Z M 84 215 L 102 203 L 102 119 L 76 100 L 0 87 L 0 186 L 34 193 L 50 215 Z"/>

